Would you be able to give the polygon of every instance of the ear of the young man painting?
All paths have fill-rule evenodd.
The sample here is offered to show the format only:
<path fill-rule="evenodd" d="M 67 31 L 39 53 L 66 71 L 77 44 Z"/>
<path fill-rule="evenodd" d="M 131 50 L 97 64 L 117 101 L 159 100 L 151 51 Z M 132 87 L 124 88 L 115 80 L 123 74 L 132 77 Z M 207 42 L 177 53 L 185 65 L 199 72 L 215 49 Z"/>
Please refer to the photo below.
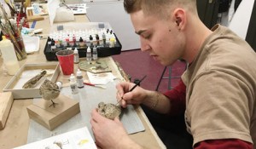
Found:
<path fill-rule="evenodd" d="M 177 26 L 177 29 L 183 30 L 185 24 L 186 24 L 186 13 L 184 9 L 175 9 L 173 11 L 174 20 Z"/>

